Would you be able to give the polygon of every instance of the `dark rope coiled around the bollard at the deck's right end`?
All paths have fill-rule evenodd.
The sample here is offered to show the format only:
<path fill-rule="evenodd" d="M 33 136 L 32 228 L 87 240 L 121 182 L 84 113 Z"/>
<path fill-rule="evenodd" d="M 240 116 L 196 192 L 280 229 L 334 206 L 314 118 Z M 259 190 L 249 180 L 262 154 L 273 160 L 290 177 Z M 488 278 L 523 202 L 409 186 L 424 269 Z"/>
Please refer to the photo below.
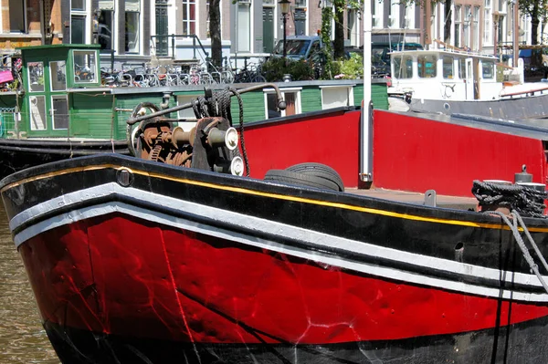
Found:
<path fill-rule="evenodd" d="M 498 205 L 523 216 L 546 218 L 544 215 L 546 192 L 520 184 L 506 185 L 474 181 L 472 193 L 478 199 L 479 206 Z"/>

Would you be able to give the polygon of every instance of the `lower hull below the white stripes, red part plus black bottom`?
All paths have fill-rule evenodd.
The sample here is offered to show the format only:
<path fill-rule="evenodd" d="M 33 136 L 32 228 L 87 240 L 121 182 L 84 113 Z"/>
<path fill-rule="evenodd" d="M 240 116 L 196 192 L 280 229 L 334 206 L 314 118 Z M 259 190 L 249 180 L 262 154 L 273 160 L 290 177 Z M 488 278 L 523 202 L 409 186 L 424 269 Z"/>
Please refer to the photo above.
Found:
<path fill-rule="evenodd" d="M 66 362 L 499 361 L 510 346 L 527 350 L 520 331 L 541 335 L 548 316 L 545 305 L 387 280 L 121 213 L 19 250 Z M 94 356 L 97 345 L 111 357 Z"/>

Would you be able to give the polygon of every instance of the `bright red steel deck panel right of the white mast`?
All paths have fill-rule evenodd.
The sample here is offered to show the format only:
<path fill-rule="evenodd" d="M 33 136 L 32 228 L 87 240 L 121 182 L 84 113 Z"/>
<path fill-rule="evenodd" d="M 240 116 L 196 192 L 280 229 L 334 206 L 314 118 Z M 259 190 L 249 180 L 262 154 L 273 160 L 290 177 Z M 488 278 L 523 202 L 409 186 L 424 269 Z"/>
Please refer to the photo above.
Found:
<path fill-rule="evenodd" d="M 374 185 L 394 190 L 469 196 L 473 180 L 532 173 L 546 182 L 543 141 L 374 111 Z"/>

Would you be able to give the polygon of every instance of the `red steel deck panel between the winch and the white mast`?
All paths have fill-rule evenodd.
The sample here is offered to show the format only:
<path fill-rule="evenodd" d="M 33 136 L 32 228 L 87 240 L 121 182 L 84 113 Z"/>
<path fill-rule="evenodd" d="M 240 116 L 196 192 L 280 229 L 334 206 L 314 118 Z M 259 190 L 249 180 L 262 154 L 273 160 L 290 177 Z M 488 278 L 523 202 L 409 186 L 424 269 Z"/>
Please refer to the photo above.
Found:
<path fill-rule="evenodd" d="M 360 115 L 359 110 L 338 112 L 312 120 L 303 118 L 248 127 L 244 135 L 251 177 L 262 179 L 271 169 L 314 161 L 339 172 L 346 187 L 356 187 Z"/>

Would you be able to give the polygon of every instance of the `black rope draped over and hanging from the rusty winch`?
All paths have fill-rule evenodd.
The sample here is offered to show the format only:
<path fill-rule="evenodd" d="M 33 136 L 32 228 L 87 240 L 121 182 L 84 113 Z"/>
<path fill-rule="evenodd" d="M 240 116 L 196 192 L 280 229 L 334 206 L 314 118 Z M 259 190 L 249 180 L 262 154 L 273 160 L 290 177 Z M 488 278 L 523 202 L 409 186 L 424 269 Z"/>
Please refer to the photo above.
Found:
<path fill-rule="evenodd" d="M 209 95 L 208 95 L 209 94 Z M 248 152 L 244 139 L 244 103 L 236 88 L 227 87 L 218 91 L 206 90 L 205 96 L 199 96 L 193 104 L 196 119 L 221 117 L 228 120 L 232 126 L 232 115 L 230 113 L 230 99 L 236 96 L 239 107 L 239 137 L 242 147 L 244 162 L 246 163 L 246 175 L 249 176 Z"/>

